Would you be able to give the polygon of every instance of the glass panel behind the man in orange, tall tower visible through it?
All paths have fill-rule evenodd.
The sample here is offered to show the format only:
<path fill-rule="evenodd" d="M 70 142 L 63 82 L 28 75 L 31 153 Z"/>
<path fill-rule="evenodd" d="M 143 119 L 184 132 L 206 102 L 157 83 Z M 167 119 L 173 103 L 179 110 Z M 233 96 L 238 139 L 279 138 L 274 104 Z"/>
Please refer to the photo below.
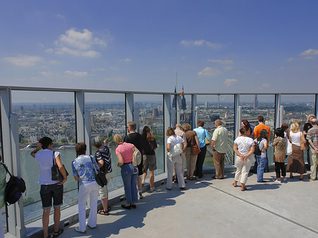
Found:
<path fill-rule="evenodd" d="M 269 138 L 269 148 L 267 157 L 269 164 L 273 163 L 273 138 L 275 136 L 275 95 L 240 95 L 240 105 L 242 106 L 242 120 L 246 119 L 254 128 L 259 123 L 257 117 L 264 117 L 264 123 L 271 129 Z"/>

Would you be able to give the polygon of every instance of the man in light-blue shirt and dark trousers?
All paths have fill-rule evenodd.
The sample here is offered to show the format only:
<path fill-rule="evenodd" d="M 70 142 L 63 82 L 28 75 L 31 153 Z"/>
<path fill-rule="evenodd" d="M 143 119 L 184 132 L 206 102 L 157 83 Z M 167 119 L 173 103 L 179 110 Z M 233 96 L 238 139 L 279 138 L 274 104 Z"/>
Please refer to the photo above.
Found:
<path fill-rule="evenodd" d="M 202 173 L 202 167 L 204 164 L 204 159 L 206 158 L 206 139 L 208 141 L 211 140 L 210 135 L 208 134 L 208 130 L 204 129 L 204 121 L 198 121 L 198 128 L 194 129 L 196 135 L 199 138 L 200 150 L 201 152 L 198 155 L 198 159 L 196 160 L 196 170 L 195 174 L 199 179 L 204 178 Z"/>

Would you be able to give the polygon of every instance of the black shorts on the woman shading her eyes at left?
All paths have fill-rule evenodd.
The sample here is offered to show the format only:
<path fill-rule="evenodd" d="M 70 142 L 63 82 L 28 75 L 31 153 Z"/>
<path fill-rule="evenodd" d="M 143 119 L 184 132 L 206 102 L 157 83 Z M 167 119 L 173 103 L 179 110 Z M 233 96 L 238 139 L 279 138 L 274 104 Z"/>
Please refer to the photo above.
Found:
<path fill-rule="evenodd" d="M 40 196 L 43 209 L 52 208 L 52 198 L 54 207 L 61 206 L 63 204 L 63 184 L 41 185 Z"/>

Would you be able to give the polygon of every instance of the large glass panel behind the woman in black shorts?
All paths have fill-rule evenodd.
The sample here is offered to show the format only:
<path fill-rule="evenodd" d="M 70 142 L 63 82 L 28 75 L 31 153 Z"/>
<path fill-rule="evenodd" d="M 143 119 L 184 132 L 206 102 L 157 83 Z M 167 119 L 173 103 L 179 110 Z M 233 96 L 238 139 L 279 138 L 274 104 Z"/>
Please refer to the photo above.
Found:
<path fill-rule="evenodd" d="M 42 216 L 40 168 L 30 152 L 43 136 L 52 138 L 53 150 L 61 153 L 61 161 L 69 172 L 61 208 L 77 203 L 77 182 L 71 175 L 71 161 L 76 157 L 74 93 L 13 90 L 12 110 L 18 115 L 21 174 L 27 187 L 23 205 L 25 224 L 28 224 Z"/>

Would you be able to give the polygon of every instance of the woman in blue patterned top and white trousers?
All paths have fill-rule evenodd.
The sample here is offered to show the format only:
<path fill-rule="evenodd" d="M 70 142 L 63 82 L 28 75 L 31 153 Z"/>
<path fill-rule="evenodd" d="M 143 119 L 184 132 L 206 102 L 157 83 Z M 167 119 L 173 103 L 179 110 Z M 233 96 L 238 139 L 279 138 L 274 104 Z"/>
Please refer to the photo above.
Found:
<path fill-rule="evenodd" d="M 76 232 L 86 233 L 86 225 L 90 228 L 96 227 L 98 190 L 100 186 L 95 180 L 98 164 L 93 157 L 86 155 L 86 144 L 76 143 L 76 155 L 72 162 L 73 176 L 79 182 L 78 190 L 78 220 L 79 226 L 75 227 Z M 86 201 L 90 196 L 90 215 L 86 224 Z"/>

